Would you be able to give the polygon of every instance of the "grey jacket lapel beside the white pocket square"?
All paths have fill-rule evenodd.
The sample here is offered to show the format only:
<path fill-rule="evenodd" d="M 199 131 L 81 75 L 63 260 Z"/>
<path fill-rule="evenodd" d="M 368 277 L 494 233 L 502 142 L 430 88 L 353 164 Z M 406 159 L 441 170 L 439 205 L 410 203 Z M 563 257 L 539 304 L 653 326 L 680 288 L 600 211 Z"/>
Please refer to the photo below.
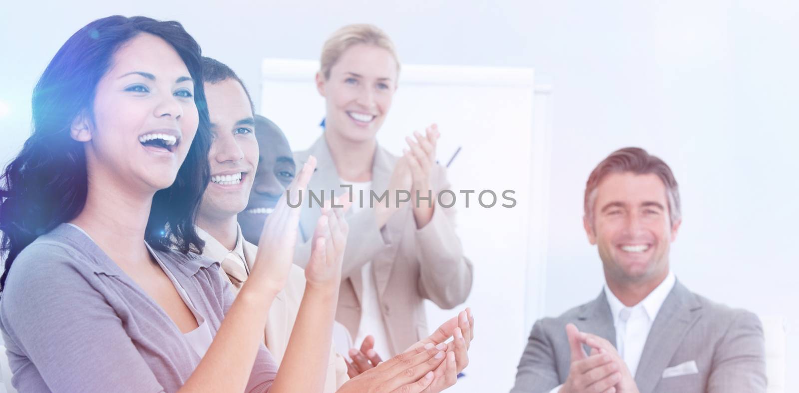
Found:
<path fill-rule="evenodd" d="M 674 284 L 658 316 L 655 316 L 649 336 L 638 363 L 635 383 L 642 393 L 649 393 L 660 382 L 662 372 L 669 366 L 674 352 L 682 343 L 682 337 L 702 316 L 698 312 L 702 305 L 693 293 L 679 281 Z"/>

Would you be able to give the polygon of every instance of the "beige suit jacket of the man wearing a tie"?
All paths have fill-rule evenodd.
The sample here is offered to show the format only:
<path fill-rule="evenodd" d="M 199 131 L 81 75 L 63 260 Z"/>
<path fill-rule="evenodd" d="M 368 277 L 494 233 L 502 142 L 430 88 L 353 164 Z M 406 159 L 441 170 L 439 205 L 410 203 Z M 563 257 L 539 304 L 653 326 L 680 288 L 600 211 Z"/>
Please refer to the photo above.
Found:
<path fill-rule="evenodd" d="M 202 255 L 220 262 L 224 260 L 225 256 L 228 255 L 228 249 L 214 239 L 213 236 L 210 236 L 208 232 L 203 231 L 201 228 L 197 229 L 197 234 L 200 235 L 202 240 L 205 240 Z M 243 238 L 241 240 L 244 241 L 244 261 L 249 268 L 252 268 L 258 247 Z M 220 269 L 220 272 L 223 272 L 222 269 Z M 226 274 L 224 276 L 226 280 L 230 280 L 229 276 Z M 235 286 L 232 288 L 237 291 Z M 288 272 L 285 288 L 275 296 L 275 300 L 272 301 L 272 307 L 269 308 L 269 316 L 264 331 L 266 347 L 278 364 L 283 360 L 286 353 L 288 339 L 292 335 L 292 327 L 296 321 L 297 313 L 300 311 L 300 302 L 304 292 L 305 272 L 302 268 L 292 265 L 292 269 Z M 324 379 L 324 393 L 336 391 L 348 379 L 347 364 L 344 363 L 344 358 L 336 353 L 334 347 L 331 347 L 328 371 Z"/>

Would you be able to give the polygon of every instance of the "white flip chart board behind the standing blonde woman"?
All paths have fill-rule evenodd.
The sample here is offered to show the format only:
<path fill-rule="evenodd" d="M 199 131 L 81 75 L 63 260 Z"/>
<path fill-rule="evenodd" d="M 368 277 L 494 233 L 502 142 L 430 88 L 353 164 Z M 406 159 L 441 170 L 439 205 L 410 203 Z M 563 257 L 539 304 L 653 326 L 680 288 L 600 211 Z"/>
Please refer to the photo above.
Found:
<path fill-rule="evenodd" d="M 307 149 L 320 136 L 324 98 L 316 91 L 318 62 L 264 59 L 260 113 L 284 130 L 292 149 Z M 508 391 L 543 312 L 547 235 L 551 87 L 535 85 L 529 68 L 403 65 L 392 109 L 377 134 L 380 145 L 400 154 L 403 138 L 435 122 L 438 160 L 453 189 L 515 190 L 514 208 L 483 208 L 462 194 L 457 230 L 475 265 L 466 304 L 475 314 L 470 364 L 451 391 Z M 351 240 L 352 241 L 352 240 Z M 434 329 L 455 315 L 427 302 Z M 458 309 L 463 308 L 463 306 Z"/>

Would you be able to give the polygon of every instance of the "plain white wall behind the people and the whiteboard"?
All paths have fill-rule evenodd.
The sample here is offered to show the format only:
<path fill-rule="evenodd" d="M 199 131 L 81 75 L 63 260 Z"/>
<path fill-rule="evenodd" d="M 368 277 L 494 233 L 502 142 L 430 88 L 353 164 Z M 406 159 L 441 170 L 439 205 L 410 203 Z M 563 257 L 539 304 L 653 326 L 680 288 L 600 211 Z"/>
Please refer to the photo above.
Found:
<path fill-rule="evenodd" d="M 26 137 L 46 63 L 75 30 L 109 14 L 184 22 L 205 54 L 254 90 L 262 58 L 314 59 L 351 22 L 382 26 L 403 62 L 535 67 L 556 92 L 546 314 L 598 293 L 598 257 L 580 224 L 583 185 L 607 153 L 639 145 L 669 162 L 681 185 L 675 272 L 714 300 L 785 316 L 788 370 L 799 369 L 799 2 L 229 0 L 203 9 L 2 0 L 0 161 Z M 499 334 L 479 339 L 490 345 Z M 799 391 L 799 375 L 789 373 L 787 387 Z"/>

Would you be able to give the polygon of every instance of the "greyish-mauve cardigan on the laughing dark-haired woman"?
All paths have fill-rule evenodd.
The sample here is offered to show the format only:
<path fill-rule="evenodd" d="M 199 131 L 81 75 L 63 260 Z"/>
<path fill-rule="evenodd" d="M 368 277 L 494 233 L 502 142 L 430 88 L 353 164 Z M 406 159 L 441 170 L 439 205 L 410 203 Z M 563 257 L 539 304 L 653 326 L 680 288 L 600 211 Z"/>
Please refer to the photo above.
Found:
<path fill-rule="evenodd" d="M 219 263 L 155 251 L 219 330 L 233 304 Z M 78 228 L 61 224 L 22 250 L 0 299 L 11 382 L 28 391 L 177 391 L 200 357 L 169 316 Z M 260 344 L 247 391 L 277 366 Z"/>

